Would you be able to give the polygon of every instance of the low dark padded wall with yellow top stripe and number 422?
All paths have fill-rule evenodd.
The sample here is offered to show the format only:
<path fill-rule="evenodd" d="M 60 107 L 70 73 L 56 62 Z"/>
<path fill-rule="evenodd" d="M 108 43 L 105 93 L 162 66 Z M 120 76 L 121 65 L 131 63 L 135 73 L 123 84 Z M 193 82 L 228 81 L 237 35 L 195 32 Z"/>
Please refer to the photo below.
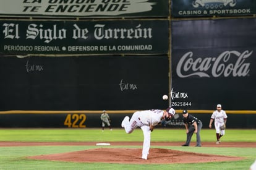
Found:
<path fill-rule="evenodd" d="M 121 128 L 122 119 L 131 117 L 134 110 L 108 111 L 111 118 L 111 126 Z M 210 110 L 191 110 L 190 114 L 198 117 L 203 122 L 203 129 L 208 129 L 211 117 Z M 29 128 L 101 128 L 102 111 L 1 111 L 1 127 L 29 127 Z M 171 121 L 162 122 L 158 128 L 184 128 L 182 110 Z M 227 128 L 255 129 L 255 111 L 226 111 L 228 121 Z"/>

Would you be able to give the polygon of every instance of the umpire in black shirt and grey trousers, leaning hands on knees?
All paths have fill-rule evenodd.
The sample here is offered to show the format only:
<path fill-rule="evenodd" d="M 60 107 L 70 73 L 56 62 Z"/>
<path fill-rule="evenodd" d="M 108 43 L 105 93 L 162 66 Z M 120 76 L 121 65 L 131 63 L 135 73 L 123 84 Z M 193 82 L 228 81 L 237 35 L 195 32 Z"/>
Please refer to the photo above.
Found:
<path fill-rule="evenodd" d="M 197 134 L 197 145 L 195 147 L 201 147 L 200 130 L 203 127 L 202 122 L 197 117 L 192 116 L 187 110 L 182 111 L 183 122 L 186 127 L 187 141 L 182 147 L 188 147 L 192 138 L 192 135 Z"/>

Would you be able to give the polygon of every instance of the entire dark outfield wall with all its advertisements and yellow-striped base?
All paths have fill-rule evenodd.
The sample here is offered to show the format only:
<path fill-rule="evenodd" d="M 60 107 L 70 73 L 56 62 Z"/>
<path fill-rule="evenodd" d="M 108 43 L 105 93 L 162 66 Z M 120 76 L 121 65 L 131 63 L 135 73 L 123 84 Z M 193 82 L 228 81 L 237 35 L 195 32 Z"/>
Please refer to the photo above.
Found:
<path fill-rule="evenodd" d="M 131 109 L 168 106 L 207 122 L 220 103 L 228 126 L 254 128 L 255 11 L 251 0 L 2 0 L 0 127 L 98 127 L 103 109 L 119 127 Z"/>

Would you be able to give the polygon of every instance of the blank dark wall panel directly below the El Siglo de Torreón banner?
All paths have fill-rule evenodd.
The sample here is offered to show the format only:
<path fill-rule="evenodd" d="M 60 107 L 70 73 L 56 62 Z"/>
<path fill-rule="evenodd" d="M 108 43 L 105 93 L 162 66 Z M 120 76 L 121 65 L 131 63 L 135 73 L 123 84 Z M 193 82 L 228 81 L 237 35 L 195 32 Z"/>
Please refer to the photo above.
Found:
<path fill-rule="evenodd" d="M 163 109 L 168 63 L 167 55 L 0 57 L 0 110 Z"/>

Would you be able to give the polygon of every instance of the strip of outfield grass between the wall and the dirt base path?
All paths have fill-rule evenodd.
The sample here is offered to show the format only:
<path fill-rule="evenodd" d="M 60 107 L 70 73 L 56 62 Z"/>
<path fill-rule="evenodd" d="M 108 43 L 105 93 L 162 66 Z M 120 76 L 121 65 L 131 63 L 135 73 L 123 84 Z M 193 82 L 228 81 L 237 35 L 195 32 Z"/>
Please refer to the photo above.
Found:
<path fill-rule="evenodd" d="M 152 142 L 183 142 L 186 137 L 184 129 L 155 129 L 151 133 Z M 215 130 L 202 129 L 203 142 L 216 140 Z M 228 129 L 223 137 L 226 142 L 256 142 L 256 130 Z M 124 129 L 0 129 L 0 142 L 114 142 L 143 141 L 142 130 L 126 134 Z M 195 141 L 195 135 L 192 142 Z"/>

